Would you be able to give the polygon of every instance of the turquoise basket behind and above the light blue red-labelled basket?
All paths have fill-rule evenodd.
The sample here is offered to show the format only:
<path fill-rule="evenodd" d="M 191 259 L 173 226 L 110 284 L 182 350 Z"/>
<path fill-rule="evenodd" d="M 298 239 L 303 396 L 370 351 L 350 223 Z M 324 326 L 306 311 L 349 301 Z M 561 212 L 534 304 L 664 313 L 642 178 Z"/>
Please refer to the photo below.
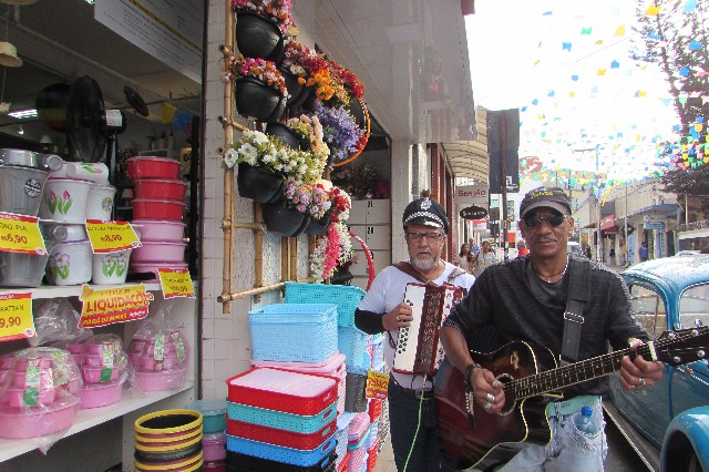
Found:
<path fill-rule="evenodd" d="M 326 284 L 286 283 L 286 304 L 335 304 L 338 326 L 354 326 L 354 309 L 364 297 L 359 287 Z"/>

